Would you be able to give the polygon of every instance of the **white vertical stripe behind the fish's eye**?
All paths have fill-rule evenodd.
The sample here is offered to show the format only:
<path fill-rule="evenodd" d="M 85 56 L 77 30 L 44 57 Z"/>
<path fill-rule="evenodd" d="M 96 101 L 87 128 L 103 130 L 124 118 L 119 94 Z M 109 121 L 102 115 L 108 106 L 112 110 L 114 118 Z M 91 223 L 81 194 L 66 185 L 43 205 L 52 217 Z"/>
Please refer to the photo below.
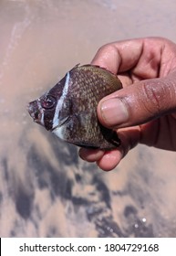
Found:
<path fill-rule="evenodd" d="M 52 126 L 53 129 L 55 129 L 57 127 L 57 125 L 59 124 L 58 115 L 59 115 L 60 110 L 62 109 L 62 105 L 67 96 L 67 91 L 68 91 L 68 87 L 69 87 L 69 77 L 70 77 L 69 72 L 67 72 L 66 82 L 64 85 L 64 89 L 62 91 L 62 95 L 61 95 L 59 101 L 57 101 L 57 107 L 56 107 L 55 115 L 53 118 L 53 126 Z"/>

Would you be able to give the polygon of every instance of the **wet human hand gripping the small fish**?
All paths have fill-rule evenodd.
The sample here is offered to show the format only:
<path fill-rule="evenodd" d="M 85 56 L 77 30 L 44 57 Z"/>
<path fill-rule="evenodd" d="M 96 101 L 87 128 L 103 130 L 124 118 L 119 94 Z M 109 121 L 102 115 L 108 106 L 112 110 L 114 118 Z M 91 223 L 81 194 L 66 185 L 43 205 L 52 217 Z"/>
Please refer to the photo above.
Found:
<path fill-rule="evenodd" d="M 137 144 L 175 151 L 176 44 L 161 37 L 114 42 L 99 48 L 92 64 L 118 74 L 123 84 L 98 103 L 99 122 L 118 131 L 121 146 L 109 152 L 81 148 L 80 157 L 109 171 Z M 108 100 L 116 105 L 102 109 Z"/>

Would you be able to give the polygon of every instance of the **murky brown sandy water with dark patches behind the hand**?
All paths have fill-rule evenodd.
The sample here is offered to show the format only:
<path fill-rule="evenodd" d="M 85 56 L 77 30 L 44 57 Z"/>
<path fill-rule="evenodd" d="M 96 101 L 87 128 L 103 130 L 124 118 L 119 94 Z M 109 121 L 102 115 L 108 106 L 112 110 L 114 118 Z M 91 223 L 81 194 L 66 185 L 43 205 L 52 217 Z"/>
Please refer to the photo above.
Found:
<path fill-rule="evenodd" d="M 175 237 L 175 153 L 138 146 L 113 172 L 32 122 L 28 101 L 110 41 L 176 41 L 174 0 L 0 1 L 0 236 Z"/>

